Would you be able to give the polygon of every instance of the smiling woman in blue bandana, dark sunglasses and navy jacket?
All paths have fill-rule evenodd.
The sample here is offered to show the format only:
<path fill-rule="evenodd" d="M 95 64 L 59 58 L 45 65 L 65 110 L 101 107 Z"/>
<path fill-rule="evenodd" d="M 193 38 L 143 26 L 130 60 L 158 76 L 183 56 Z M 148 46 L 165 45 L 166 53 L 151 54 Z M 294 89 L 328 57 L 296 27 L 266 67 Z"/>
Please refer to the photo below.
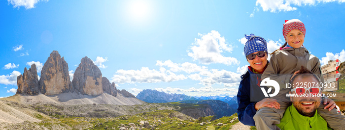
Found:
<path fill-rule="evenodd" d="M 255 126 L 253 117 L 258 109 L 264 106 L 278 109 L 280 104 L 275 99 L 266 98 L 260 88 L 268 89 L 266 86 L 260 86 L 261 74 L 268 65 L 266 40 L 254 34 L 245 35 L 245 38 L 248 41 L 244 45 L 244 54 L 250 66 L 248 66 L 248 71 L 241 76 L 237 94 L 239 104 L 237 113 L 239 121 L 244 125 Z"/>

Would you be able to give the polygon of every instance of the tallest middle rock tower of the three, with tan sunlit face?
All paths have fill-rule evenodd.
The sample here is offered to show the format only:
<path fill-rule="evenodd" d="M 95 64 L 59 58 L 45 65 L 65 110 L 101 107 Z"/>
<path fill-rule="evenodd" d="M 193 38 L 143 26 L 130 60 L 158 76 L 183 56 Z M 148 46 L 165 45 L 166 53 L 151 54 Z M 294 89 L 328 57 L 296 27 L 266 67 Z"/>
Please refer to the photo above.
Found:
<path fill-rule="evenodd" d="M 39 86 L 44 95 L 61 94 L 71 89 L 68 64 L 58 51 L 51 52 L 44 63 Z"/>

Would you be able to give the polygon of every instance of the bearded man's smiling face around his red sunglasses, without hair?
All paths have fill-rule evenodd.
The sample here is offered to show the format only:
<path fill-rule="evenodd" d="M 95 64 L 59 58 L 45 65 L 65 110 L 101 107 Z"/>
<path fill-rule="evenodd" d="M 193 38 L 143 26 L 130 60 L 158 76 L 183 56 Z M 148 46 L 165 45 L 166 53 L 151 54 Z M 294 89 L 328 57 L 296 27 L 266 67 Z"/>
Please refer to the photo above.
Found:
<path fill-rule="evenodd" d="M 308 76 L 304 78 L 302 78 L 301 76 L 298 76 L 295 78 L 293 82 L 294 83 L 293 88 L 295 88 L 296 86 L 302 87 L 302 84 L 305 84 L 305 83 L 313 84 L 313 82 L 314 82 L 314 85 L 311 87 L 317 88 L 316 84 L 318 83 L 318 81 L 313 76 Z M 302 87 L 302 88 L 305 88 L 305 87 Z M 309 87 L 306 87 L 306 88 L 309 88 Z M 299 90 L 295 90 L 290 93 L 296 94 L 296 91 L 299 91 Z M 306 94 L 309 95 L 310 91 L 311 90 L 306 90 Z M 299 91 L 299 92 L 302 92 L 302 91 Z M 321 92 L 317 91 L 317 93 L 321 93 Z M 321 97 L 317 97 L 316 95 L 315 96 L 309 95 L 308 97 L 298 96 L 298 97 L 290 97 L 290 100 L 292 101 L 292 104 L 295 106 L 295 108 L 301 115 L 311 117 L 314 115 L 316 108 L 320 105 Z"/>

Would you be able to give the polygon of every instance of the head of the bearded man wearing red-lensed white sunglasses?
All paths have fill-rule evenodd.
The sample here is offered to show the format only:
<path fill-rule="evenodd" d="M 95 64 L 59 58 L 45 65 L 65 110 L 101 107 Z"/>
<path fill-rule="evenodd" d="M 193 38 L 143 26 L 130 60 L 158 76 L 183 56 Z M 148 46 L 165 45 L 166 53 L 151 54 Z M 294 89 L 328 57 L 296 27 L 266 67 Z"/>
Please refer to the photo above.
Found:
<path fill-rule="evenodd" d="M 290 83 L 292 84 L 290 94 L 298 94 L 298 96 L 290 97 L 294 107 L 303 116 L 313 116 L 321 101 L 321 97 L 317 95 L 321 93 L 320 79 L 302 66 Z"/>

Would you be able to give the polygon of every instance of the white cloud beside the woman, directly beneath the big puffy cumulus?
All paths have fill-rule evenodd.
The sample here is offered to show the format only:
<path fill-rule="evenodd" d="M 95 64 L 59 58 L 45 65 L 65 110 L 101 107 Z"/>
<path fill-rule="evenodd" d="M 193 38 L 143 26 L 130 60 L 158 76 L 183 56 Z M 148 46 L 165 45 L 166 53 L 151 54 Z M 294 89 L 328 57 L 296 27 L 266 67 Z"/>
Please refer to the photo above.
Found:
<path fill-rule="evenodd" d="M 240 82 L 241 81 L 241 75 L 226 71 L 226 70 L 216 70 L 212 69 L 210 72 L 205 71 L 201 72 L 200 75 L 202 77 L 205 77 L 200 80 L 201 84 L 204 84 L 206 86 L 212 85 L 212 84 L 225 84 L 225 83 L 235 83 L 235 82 Z"/>

